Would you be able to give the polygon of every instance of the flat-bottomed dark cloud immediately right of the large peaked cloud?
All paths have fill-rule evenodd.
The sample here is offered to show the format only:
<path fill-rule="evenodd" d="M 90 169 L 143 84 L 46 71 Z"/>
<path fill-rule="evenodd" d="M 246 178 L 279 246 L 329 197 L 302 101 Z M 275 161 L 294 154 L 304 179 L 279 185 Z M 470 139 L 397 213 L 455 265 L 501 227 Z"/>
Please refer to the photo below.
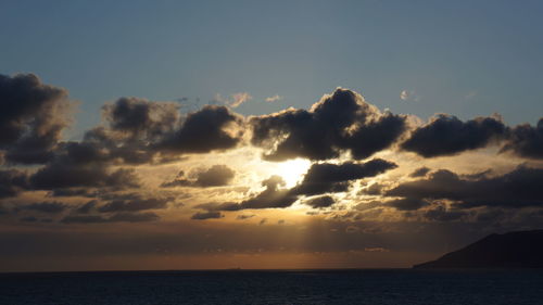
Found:
<path fill-rule="evenodd" d="M 425 157 L 453 155 L 484 148 L 492 140 L 503 138 L 506 131 L 498 118 L 477 117 L 462 122 L 456 116 L 440 114 L 415 129 L 401 147 Z"/>

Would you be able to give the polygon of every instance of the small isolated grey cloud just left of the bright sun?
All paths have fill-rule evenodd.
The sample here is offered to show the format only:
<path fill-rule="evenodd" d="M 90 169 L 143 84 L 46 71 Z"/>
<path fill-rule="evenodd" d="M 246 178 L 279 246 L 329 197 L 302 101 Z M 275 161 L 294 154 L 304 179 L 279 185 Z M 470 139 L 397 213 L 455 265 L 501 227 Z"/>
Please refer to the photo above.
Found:
<path fill-rule="evenodd" d="M 163 188 L 171 187 L 220 187 L 227 186 L 233 179 L 236 173 L 226 165 L 213 165 L 207 169 L 198 170 L 195 179 L 185 178 L 185 171 L 179 171 L 176 179 L 162 183 Z"/>

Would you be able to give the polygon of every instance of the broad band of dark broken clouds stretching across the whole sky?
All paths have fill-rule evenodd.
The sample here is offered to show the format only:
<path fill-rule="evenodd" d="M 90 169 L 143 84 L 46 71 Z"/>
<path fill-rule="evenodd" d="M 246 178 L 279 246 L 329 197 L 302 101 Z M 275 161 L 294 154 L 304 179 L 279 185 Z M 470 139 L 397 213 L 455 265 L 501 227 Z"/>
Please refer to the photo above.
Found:
<path fill-rule="evenodd" d="M 188 200 L 182 213 L 195 220 L 300 203 L 338 219 L 396 211 L 440 221 L 468 217 L 473 208 L 543 204 L 543 118 L 535 126 L 507 126 L 498 115 L 460 120 L 438 114 L 417 125 L 343 88 L 308 110 L 253 116 L 232 111 L 250 99 L 242 92 L 226 105 L 182 113 L 176 102 L 122 97 L 102 107 L 103 124 L 66 141 L 62 132 L 74 105 L 67 90 L 33 74 L 0 75 L 0 217 L 66 225 L 155 221 Z M 517 167 L 467 175 L 427 164 L 491 147 L 497 157 L 513 156 Z M 258 176 L 228 158 L 213 160 L 242 149 L 258 154 L 262 164 L 305 158 L 311 165 L 288 185 L 281 173 Z M 387 153 L 394 160 L 380 157 Z M 420 164 L 405 168 L 397 155 Z M 203 165 L 186 165 L 204 156 Z M 177 176 L 160 176 L 159 188 L 149 187 L 159 177 L 141 176 L 141 168 L 168 164 L 177 166 Z M 387 178 L 391 171 L 397 180 Z M 257 218 L 248 215 L 238 219 Z"/>

